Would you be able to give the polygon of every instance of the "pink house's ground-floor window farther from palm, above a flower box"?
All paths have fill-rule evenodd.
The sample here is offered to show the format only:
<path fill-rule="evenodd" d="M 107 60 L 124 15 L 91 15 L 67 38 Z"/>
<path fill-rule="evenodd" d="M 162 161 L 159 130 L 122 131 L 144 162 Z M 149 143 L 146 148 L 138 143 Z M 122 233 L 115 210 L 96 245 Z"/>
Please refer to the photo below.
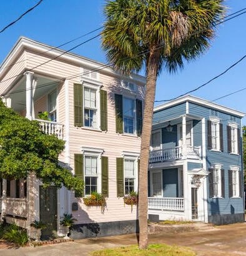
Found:
<path fill-rule="evenodd" d="M 85 190 L 86 195 L 91 195 L 91 192 L 97 192 L 97 179 L 98 179 L 98 167 L 97 157 L 86 155 L 85 160 Z"/>

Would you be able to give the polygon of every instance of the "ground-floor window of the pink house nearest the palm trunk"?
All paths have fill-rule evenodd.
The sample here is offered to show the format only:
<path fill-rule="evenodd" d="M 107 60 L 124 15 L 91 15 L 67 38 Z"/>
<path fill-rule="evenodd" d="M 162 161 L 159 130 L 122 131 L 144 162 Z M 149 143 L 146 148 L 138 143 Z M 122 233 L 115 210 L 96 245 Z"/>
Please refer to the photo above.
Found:
<path fill-rule="evenodd" d="M 135 191 L 135 160 L 124 160 L 125 195 Z"/>

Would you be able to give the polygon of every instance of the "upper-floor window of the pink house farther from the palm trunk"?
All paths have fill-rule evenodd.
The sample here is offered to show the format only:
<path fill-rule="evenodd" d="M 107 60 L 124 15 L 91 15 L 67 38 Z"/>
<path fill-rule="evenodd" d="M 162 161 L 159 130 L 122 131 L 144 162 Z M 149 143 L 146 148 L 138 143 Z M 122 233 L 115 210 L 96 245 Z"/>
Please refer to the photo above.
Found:
<path fill-rule="evenodd" d="M 97 91 L 84 87 L 84 126 L 97 127 Z"/>

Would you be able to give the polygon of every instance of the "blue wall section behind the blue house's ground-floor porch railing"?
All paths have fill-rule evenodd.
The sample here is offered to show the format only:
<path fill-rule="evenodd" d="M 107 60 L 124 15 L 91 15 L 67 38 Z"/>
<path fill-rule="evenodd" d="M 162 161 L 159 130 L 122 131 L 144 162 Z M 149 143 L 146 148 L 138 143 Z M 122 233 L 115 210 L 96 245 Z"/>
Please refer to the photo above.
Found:
<path fill-rule="evenodd" d="M 178 169 L 163 170 L 163 194 L 164 197 L 178 197 Z"/>

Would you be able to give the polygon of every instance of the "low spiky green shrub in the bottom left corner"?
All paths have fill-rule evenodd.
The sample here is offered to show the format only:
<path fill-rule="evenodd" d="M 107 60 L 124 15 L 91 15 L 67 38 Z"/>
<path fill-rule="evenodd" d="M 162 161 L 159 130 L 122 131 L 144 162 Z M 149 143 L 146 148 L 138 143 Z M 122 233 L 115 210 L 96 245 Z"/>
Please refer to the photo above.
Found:
<path fill-rule="evenodd" d="M 5 232 L 2 235 L 2 239 L 6 239 L 7 241 L 19 246 L 23 246 L 28 242 L 28 235 L 25 229 L 12 224 L 6 226 Z"/>

